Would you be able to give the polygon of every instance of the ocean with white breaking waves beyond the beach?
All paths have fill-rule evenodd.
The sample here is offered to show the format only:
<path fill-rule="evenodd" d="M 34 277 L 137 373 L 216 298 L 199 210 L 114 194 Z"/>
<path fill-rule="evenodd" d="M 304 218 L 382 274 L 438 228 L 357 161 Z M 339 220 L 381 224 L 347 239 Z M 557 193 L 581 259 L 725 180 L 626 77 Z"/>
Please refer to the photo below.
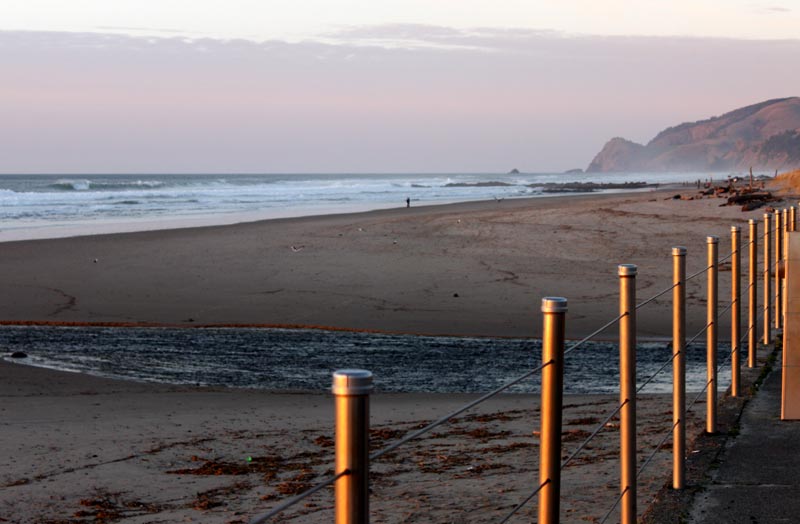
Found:
<path fill-rule="evenodd" d="M 0 241 L 642 189 L 681 174 L 1 175 Z M 604 185 L 592 185 L 604 184 Z M 626 185 L 628 184 L 628 185 Z"/>

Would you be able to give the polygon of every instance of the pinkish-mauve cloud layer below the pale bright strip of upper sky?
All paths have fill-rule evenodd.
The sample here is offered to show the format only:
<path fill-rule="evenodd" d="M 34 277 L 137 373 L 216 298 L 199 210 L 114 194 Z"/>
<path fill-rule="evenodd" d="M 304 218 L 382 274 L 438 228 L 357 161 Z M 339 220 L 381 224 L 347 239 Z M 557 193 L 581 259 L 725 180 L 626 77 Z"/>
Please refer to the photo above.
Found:
<path fill-rule="evenodd" d="M 0 32 L 0 172 L 561 171 L 800 94 L 800 40 L 403 32 L 423 45 Z"/>

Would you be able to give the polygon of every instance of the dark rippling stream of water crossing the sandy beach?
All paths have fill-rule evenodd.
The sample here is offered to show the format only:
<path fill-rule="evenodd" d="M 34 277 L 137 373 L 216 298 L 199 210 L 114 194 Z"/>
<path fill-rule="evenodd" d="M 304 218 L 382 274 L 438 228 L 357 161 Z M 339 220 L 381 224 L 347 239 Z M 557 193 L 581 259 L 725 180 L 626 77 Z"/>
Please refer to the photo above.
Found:
<path fill-rule="evenodd" d="M 568 343 L 568 347 L 569 347 Z M 721 346 L 722 347 L 722 346 Z M 19 362 L 128 380 L 326 391 L 336 369 L 373 372 L 382 392 L 487 392 L 541 364 L 541 341 L 424 337 L 311 329 L 0 327 L 0 348 Z M 725 354 L 726 351 L 720 351 Z M 672 351 L 664 342 L 638 345 L 645 393 L 671 391 Z M 721 362 L 721 364 L 724 364 Z M 722 365 L 720 383 L 729 382 Z M 706 384 L 705 348 L 687 348 L 687 390 Z M 658 372 L 658 373 L 657 373 Z M 567 393 L 619 391 L 619 348 L 589 342 L 565 358 Z M 511 392 L 538 391 L 540 373 Z"/>

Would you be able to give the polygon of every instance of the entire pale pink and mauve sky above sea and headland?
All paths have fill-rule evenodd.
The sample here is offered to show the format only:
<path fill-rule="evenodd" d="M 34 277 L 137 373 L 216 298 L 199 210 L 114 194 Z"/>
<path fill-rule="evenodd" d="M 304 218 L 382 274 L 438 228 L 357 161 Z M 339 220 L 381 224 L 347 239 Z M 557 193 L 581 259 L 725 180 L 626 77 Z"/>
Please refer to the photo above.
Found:
<path fill-rule="evenodd" d="M 0 0 L 0 173 L 585 168 L 800 86 L 800 0 Z"/>

